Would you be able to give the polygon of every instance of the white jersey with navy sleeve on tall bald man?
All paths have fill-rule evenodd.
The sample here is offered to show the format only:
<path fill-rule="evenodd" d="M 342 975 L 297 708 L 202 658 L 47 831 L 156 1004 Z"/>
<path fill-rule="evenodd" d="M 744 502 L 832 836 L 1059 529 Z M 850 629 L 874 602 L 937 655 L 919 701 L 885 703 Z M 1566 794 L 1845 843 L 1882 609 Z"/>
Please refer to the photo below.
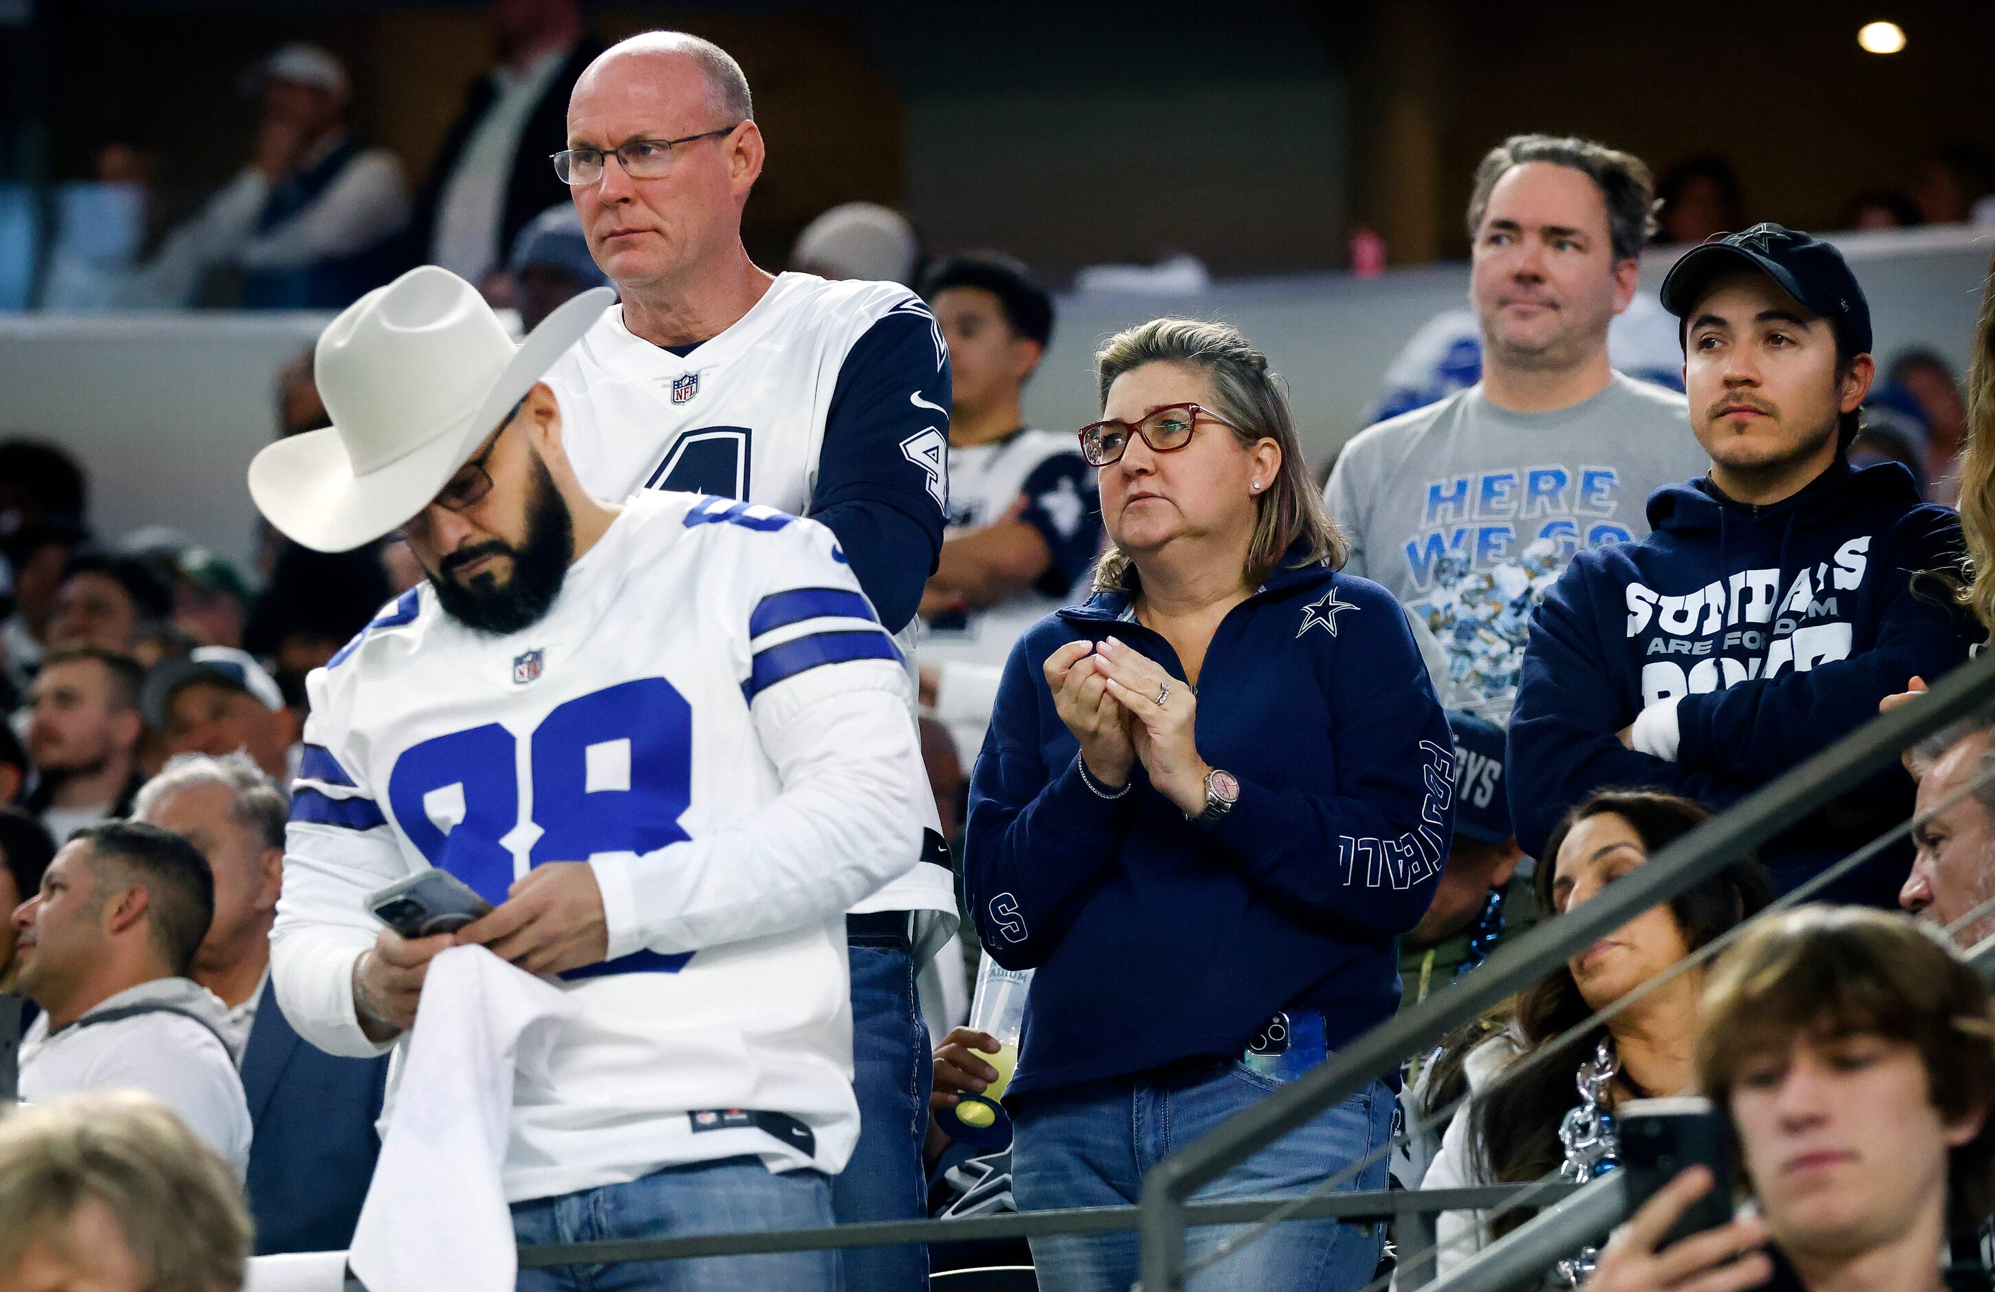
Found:
<path fill-rule="evenodd" d="M 846 359 L 882 339 L 898 347 L 896 361 L 874 365 L 870 387 L 854 389 Z M 688 355 L 632 335 L 610 307 L 545 381 L 561 401 L 569 461 L 598 498 L 676 488 L 796 516 L 912 498 L 908 506 L 934 508 L 928 520 L 940 528 L 950 498 L 946 363 L 934 315 L 906 287 L 782 273 Z M 846 405 L 870 413 L 828 439 Z M 908 656 L 912 640 L 910 624 L 898 638 Z M 940 819 L 930 827 L 940 833 Z M 920 865 L 856 909 L 944 911 L 954 927 L 956 885 Z"/>

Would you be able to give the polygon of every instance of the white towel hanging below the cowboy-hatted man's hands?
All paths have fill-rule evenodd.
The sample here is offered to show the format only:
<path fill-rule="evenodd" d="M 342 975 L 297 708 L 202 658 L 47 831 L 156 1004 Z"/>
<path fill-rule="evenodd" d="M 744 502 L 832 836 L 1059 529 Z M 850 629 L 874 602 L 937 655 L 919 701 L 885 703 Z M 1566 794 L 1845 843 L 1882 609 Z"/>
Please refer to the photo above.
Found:
<path fill-rule="evenodd" d="M 353 1274 L 369 1292 L 513 1292 L 519 1254 L 505 1200 L 513 1081 L 547 1079 L 569 997 L 485 947 L 429 963 L 407 1041 Z"/>

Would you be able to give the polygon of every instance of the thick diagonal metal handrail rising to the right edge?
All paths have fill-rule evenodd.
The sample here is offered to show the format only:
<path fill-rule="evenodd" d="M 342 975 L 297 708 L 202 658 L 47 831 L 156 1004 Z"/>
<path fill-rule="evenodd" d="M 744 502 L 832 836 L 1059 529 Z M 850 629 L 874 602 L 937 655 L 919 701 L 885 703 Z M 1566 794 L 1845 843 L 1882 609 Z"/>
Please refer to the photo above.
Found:
<path fill-rule="evenodd" d="M 1183 1286 L 1185 1214 L 1191 1194 L 1247 1160 L 1319 1111 L 1365 1089 L 1400 1059 L 1418 1053 L 1538 981 L 1568 955 L 1634 915 L 1708 879 L 1831 798 L 1855 790 L 1899 754 L 1955 718 L 1995 700 L 1995 652 L 1953 670 L 1931 692 L 1792 768 L 1758 792 L 1658 851 L 1592 901 L 1498 947 L 1474 973 L 1432 993 L 1361 1035 L 1329 1063 L 1233 1115 L 1203 1138 L 1161 1160 L 1143 1184 L 1141 1240 L 1145 1292 Z"/>

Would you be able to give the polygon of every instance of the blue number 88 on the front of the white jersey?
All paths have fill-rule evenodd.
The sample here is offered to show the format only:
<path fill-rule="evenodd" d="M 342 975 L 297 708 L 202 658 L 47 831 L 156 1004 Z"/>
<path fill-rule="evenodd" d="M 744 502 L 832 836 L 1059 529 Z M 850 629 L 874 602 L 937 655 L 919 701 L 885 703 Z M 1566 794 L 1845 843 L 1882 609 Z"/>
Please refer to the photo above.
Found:
<path fill-rule="evenodd" d="M 497 722 L 435 736 L 395 760 L 387 798 L 409 841 L 493 905 L 531 865 L 648 853 L 690 835 L 692 706 L 664 678 L 622 682 L 555 706 L 521 742 Z M 692 953 L 638 951 L 563 977 L 678 973 Z"/>

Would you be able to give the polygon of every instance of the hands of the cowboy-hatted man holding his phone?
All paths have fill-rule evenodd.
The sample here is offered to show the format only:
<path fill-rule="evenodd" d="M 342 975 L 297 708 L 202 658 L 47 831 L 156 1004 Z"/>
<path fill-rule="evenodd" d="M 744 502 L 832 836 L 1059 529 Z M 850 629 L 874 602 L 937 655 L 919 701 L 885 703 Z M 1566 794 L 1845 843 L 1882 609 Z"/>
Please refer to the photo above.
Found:
<path fill-rule="evenodd" d="M 367 1015 L 395 1031 L 413 1027 L 429 963 L 451 947 L 491 947 L 497 957 L 527 973 L 563 973 L 600 963 L 608 945 L 602 889 L 589 863 L 537 865 L 513 881 L 497 909 L 457 933 L 401 937 L 393 929 L 381 929 L 373 949 L 353 971 L 363 1029 L 375 1041 L 393 1035 L 367 1027 Z"/>

